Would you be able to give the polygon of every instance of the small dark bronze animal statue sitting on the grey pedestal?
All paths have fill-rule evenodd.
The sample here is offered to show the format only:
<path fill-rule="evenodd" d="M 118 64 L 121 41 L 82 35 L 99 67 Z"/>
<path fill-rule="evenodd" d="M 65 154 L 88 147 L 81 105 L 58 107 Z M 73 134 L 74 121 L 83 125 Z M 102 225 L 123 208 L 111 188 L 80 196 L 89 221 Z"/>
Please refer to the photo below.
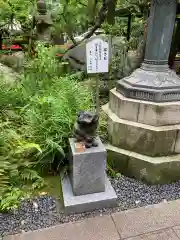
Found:
<path fill-rule="evenodd" d="M 74 137 L 86 148 L 97 147 L 96 131 L 99 123 L 99 116 L 89 111 L 81 111 L 78 114 L 77 122 L 74 125 Z"/>

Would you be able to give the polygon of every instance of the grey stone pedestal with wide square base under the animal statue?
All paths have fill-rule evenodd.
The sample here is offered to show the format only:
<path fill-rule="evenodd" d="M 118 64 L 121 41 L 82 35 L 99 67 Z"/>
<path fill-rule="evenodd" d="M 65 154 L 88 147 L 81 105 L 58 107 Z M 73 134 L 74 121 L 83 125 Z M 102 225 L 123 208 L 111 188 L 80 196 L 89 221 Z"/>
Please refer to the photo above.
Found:
<path fill-rule="evenodd" d="M 97 138 L 98 147 L 76 152 L 70 143 L 70 172 L 63 177 L 62 191 L 66 213 L 92 211 L 116 206 L 116 193 L 106 176 L 106 149 Z"/>

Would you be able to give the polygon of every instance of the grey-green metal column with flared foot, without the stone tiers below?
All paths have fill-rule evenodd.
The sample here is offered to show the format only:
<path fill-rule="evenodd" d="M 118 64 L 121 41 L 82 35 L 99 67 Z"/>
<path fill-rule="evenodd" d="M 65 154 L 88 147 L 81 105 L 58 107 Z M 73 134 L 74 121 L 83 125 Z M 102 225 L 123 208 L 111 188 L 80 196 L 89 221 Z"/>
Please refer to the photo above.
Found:
<path fill-rule="evenodd" d="M 168 66 L 176 9 L 176 0 L 152 0 L 144 62 L 117 82 L 116 89 L 124 96 L 154 102 L 180 100 L 180 78 Z"/>

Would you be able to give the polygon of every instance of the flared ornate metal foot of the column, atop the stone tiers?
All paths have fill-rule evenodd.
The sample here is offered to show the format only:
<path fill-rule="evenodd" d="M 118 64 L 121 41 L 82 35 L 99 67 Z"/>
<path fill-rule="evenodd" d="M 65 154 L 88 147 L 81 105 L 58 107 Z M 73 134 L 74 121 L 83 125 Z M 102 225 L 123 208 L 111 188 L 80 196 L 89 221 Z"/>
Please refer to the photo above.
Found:
<path fill-rule="evenodd" d="M 168 65 L 143 63 L 129 77 L 117 82 L 117 91 L 145 101 L 180 101 L 180 78 Z"/>

